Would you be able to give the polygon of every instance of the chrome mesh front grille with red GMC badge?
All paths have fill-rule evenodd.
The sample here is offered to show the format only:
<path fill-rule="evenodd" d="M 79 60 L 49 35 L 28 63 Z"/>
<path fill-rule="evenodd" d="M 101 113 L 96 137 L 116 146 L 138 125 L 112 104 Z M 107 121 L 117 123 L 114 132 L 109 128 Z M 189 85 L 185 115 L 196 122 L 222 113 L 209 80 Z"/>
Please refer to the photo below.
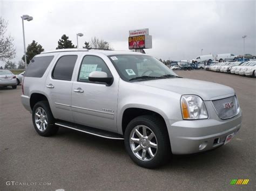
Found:
<path fill-rule="evenodd" d="M 238 114 L 238 102 L 237 97 L 235 96 L 213 100 L 212 103 L 221 119 L 232 118 Z"/>

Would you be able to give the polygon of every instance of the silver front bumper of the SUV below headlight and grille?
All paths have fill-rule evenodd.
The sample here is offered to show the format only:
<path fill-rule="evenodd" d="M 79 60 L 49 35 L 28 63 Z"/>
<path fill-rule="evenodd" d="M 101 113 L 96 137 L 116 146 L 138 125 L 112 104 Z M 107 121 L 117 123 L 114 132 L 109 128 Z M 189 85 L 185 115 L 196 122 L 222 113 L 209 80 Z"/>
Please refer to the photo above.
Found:
<path fill-rule="evenodd" d="M 168 128 L 173 154 L 191 154 L 211 150 L 224 144 L 231 133 L 241 128 L 242 114 L 226 120 L 201 119 L 178 121 Z M 171 122 L 171 121 L 170 121 Z M 200 144 L 206 144 L 199 149 Z"/>

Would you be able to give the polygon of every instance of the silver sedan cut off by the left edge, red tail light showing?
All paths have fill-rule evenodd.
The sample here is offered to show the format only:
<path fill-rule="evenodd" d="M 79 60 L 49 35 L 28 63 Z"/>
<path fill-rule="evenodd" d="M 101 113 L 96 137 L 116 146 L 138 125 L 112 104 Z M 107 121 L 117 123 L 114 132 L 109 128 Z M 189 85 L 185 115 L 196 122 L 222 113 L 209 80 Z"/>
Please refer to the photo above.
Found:
<path fill-rule="evenodd" d="M 11 86 L 13 89 L 17 88 L 16 75 L 8 69 L 0 69 L 0 86 Z"/>

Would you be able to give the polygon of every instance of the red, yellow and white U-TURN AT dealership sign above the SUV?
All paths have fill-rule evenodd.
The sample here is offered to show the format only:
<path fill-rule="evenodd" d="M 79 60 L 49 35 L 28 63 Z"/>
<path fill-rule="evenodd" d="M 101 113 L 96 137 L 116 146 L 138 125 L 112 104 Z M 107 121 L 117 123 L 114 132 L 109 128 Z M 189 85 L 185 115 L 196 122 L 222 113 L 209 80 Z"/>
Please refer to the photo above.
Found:
<path fill-rule="evenodd" d="M 129 49 L 152 48 L 152 36 L 149 35 L 149 29 L 129 31 L 128 43 Z"/>

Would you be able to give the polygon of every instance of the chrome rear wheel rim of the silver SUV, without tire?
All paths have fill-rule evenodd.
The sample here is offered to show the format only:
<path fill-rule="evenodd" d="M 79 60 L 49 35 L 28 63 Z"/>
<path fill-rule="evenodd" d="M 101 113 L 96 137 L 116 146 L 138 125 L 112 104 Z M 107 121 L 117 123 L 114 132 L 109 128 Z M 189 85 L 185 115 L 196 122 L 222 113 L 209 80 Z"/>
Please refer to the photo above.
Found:
<path fill-rule="evenodd" d="M 39 107 L 35 112 L 35 123 L 39 131 L 45 131 L 48 125 L 47 115 L 43 108 Z"/>

